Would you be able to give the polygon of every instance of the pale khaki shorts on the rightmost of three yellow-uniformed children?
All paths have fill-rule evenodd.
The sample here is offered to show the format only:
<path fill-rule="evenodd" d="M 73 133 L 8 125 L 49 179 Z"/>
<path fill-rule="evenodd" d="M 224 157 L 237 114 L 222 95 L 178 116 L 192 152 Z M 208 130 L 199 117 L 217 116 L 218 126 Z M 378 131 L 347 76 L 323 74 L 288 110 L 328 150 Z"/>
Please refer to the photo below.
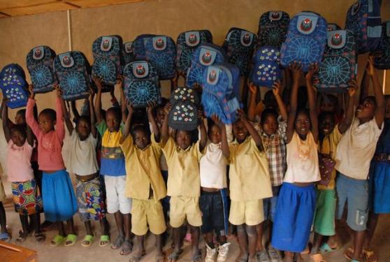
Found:
<path fill-rule="evenodd" d="M 229 222 L 233 225 L 255 226 L 264 221 L 263 200 L 231 201 Z"/>

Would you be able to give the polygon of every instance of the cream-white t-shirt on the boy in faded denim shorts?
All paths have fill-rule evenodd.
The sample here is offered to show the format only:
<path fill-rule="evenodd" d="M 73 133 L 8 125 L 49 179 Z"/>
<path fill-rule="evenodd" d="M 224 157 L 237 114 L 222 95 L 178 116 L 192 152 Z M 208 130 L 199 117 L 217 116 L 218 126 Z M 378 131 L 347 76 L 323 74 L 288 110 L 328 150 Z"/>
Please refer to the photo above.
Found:
<path fill-rule="evenodd" d="M 355 118 L 338 143 L 336 170 L 347 177 L 366 180 L 382 129 L 383 124 L 379 129 L 375 118 L 364 124 L 359 124 L 359 119 Z"/>

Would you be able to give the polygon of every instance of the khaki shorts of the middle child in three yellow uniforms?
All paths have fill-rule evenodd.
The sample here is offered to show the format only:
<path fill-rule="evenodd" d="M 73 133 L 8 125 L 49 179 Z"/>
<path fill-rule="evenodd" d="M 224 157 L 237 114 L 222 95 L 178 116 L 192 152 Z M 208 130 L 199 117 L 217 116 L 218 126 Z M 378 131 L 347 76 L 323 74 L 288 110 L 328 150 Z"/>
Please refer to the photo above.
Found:
<path fill-rule="evenodd" d="M 187 218 L 191 226 L 202 225 L 202 214 L 199 208 L 199 197 L 171 196 L 169 219 L 173 228 L 179 228 Z"/>

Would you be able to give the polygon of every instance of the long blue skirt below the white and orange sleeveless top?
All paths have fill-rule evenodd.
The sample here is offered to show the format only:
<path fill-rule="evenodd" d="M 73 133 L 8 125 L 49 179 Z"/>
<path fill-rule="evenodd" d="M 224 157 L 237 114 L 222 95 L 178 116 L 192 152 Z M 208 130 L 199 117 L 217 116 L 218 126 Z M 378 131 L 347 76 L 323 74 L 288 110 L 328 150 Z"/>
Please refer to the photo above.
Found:
<path fill-rule="evenodd" d="M 302 252 L 308 244 L 315 213 L 315 187 L 283 183 L 273 222 L 275 249 Z"/>

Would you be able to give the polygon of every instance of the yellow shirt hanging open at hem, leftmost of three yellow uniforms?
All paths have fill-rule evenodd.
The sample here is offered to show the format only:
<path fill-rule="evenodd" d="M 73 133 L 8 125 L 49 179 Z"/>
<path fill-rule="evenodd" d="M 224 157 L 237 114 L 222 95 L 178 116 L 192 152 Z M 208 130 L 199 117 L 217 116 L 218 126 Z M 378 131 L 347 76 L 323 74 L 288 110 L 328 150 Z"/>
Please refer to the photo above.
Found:
<path fill-rule="evenodd" d="M 126 187 L 125 195 L 140 200 L 149 199 L 150 187 L 153 197 L 159 200 L 166 196 L 166 188 L 161 175 L 159 161 L 161 147 L 150 138 L 150 145 L 141 150 L 133 143 L 132 136 L 127 136 L 121 147 L 126 161 Z"/>

